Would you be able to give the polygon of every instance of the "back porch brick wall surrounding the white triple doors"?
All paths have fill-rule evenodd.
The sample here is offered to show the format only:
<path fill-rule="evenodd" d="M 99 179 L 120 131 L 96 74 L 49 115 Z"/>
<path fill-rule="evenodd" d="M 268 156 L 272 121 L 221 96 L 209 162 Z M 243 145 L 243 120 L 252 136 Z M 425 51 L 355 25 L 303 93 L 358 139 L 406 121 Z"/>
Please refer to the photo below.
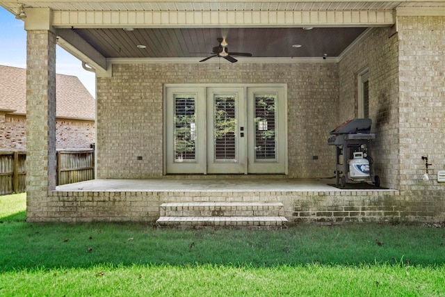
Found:
<path fill-rule="evenodd" d="M 286 83 L 289 176 L 332 176 L 327 138 L 338 122 L 336 64 L 202 63 L 113 65 L 113 77 L 97 79 L 99 178 L 162 175 L 163 83 Z"/>

